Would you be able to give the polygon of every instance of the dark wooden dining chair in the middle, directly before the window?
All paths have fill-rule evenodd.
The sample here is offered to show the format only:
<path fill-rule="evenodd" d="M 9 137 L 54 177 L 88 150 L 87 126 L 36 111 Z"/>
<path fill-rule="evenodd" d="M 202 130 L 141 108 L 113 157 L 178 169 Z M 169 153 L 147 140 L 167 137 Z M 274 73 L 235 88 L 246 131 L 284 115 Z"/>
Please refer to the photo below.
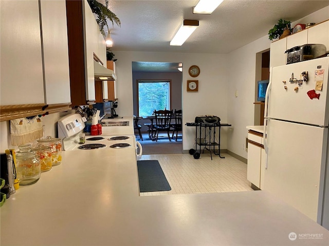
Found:
<path fill-rule="evenodd" d="M 173 116 L 172 110 L 158 110 L 154 111 L 155 115 L 155 125 L 153 126 L 155 130 L 155 141 L 158 141 L 158 135 L 159 132 L 167 132 L 169 141 L 170 139 L 170 133 L 171 130 L 171 118 Z"/>

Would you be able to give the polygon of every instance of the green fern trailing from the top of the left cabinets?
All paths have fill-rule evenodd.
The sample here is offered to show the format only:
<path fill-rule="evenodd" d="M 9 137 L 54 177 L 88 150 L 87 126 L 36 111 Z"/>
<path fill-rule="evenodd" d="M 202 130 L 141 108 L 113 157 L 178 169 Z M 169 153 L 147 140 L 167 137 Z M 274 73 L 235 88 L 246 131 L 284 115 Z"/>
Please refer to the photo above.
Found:
<path fill-rule="evenodd" d="M 105 26 L 107 30 L 109 30 L 107 20 L 112 22 L 112 26 L 114 26 L 114 24 L 117 24 L 118 27 L 121 27 L 120 19 L 116 16 L 115 13 L 108 9 L 108 0 L 105 0 L 105 6 L 97 2 L 96 0 L 87 0 L 87 2 L 93 13 L 97 15 L 96 21 L 99 25 L 99 29 L 102 34 L 105 34 Z"/>

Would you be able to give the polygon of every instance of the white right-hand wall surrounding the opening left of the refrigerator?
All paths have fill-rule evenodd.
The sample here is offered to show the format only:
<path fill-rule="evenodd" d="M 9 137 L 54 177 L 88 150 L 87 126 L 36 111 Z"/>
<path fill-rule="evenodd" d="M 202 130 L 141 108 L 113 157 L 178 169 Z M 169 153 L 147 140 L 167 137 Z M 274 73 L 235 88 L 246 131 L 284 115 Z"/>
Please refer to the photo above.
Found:
<path fill-rule="evenodd" d="M 229 131 L 227 149 L 244 158 L 247 158 L 243 149 L 248 135 L 246 126 L 254 125 L 256 53 L 269 46 L 268 36 L 264 36 L 229 53 L 228 64 L 234 76 L 230 76 L 228 83 L 228 121 L 233 129 Z"/>

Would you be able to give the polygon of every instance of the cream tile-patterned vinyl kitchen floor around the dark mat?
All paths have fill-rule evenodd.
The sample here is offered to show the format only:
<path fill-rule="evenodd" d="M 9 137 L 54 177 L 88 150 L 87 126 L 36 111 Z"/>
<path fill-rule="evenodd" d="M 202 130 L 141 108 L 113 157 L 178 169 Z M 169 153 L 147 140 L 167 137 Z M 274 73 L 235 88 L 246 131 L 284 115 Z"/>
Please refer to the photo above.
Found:
<path fill-rule="evenodd" d="M 171 191 L 141 192 L 140 196 L 253 191 L 246 163 L 221 155 L 225 158 L 213 155 L 211 160 L 206 153 L 199 159 L 190 154 L 143 155 L 141 160 L 159 161 Z"/>

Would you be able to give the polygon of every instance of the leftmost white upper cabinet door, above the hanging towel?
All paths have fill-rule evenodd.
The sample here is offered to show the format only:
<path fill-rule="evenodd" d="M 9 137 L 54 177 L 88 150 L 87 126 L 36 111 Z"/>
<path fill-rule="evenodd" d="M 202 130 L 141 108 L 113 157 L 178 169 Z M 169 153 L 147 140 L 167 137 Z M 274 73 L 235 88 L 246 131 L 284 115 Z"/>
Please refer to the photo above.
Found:
<path fill-rule="evenodd" d="M 1 106 L 44 104 L 38 1 L 0 1 Z"/>

